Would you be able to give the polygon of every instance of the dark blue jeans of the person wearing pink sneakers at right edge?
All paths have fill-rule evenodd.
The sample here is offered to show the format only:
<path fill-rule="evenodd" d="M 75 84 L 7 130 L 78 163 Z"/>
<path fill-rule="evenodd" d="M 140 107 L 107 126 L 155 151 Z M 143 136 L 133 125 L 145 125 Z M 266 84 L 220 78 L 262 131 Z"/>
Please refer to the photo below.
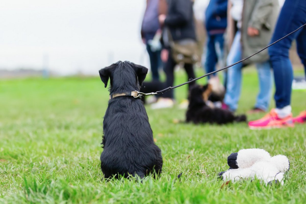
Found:
<path fill-rule="evenodd" d="M 306 0 L 286 0 L 279 14 L 271 42 L 284 37 L 305 23 Z M 274 99 L 278 109 L 290 105 L 293 70 L 289 60 L 289 49 L 294 39 L 297 42 L 297 54 L 304 65 L 306 73 L 306 27 L 268 48 L 274 70 L 276 90 Z"/>

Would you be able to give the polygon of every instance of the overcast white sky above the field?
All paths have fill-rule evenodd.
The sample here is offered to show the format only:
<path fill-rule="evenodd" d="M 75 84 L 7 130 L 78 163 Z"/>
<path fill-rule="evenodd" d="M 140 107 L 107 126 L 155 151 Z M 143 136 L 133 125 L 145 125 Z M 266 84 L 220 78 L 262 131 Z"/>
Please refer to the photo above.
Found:
<path fill-rule="evenodd" d="M 280 0 L 282 1 L 282 0 Z M 121 60 L 149 66 L 140 26 L 145 0 L 8 0 L 0 7 L 0 69 L 60 74 L 97 70 Z M 208 0 L 196 0 L 202 18 Z"/>

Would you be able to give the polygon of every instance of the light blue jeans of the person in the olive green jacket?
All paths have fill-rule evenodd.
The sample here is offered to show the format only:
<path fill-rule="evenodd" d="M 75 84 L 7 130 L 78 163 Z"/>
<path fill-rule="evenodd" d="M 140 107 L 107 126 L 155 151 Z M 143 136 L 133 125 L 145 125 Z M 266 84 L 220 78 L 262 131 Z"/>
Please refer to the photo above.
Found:
<path fill-rule="evenodd" d="M 241 32 L 237 31 L 232 47 L 226 59 L 226 64 L 231 65 L 241 60 Z M 267 110 L 271 100 L 272 89 L 272 73 L 269 61 L 256 63 L 259 78 L 259 94 L 255 107 Z M 242 64 L 239 63 L 227 69 L 227 86 L 224 102 L 231 111 L 235 111 L 241 92 L 241 69 Z"/>

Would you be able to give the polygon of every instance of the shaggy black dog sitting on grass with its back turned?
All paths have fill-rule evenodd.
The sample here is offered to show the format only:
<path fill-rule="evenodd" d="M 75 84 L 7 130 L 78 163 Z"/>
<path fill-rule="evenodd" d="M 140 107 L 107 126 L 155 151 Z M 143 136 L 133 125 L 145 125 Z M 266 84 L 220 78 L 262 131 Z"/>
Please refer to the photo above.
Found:
<path fill-rule="evenodd" d="M 139 91 L 148 69 L 128 61 L 118 61 L 99 70 L 110 97 L 103 121 L 101 169 L 105 178 L 162 172 L 161 150 L 154 143 L 149 119 L 140 98 L 117 94 Z"/>

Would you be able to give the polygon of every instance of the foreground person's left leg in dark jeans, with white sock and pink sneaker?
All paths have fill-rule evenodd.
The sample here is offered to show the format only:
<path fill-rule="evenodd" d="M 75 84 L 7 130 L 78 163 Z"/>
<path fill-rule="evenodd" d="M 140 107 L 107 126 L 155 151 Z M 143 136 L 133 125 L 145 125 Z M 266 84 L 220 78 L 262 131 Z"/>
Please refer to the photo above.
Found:
<path fill-rule="evenodd" d="M 286 0 L 279 14 L 271 43 L 299 28 L 305 23 L 305 19 L 305 0 Z M 269 47 L 268 53 L 270 55 L 271 65 L 274 71 L 276 88 L 274 95 L 276 109 L 272 109 L 267 116 L 259 120 L 250 121 L 248 124 L 249 128 L 262 129 L 294 126 L 290 106 L 293 70 L 289 60 L 289 49 L 292 41 L 297 39 L 302 32 L 303 30 L 300 29 L 299 31 Z"/>

